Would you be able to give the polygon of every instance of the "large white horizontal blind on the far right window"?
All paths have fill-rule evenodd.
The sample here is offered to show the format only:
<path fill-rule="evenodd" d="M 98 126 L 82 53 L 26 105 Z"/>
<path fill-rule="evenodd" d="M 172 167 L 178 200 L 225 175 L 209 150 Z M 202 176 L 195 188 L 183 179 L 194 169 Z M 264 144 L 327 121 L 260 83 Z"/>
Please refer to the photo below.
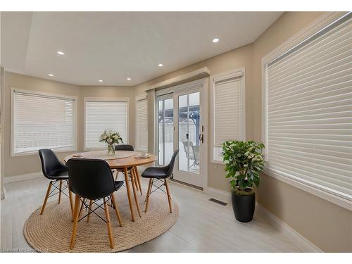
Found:
<path fill-rule="evenodd" d="M 352 201 L 351 18 L 269 63 L 267 81 L 265 167 Z"/>

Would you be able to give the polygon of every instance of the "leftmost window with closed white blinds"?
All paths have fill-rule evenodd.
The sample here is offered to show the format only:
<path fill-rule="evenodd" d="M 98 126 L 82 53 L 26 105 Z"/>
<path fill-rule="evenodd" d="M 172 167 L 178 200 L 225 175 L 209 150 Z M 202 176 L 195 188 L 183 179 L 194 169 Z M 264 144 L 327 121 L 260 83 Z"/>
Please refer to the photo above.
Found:
<path fill-rule="evenodd" d="M 73 98 L 13 89 L 11 155 L 75 151 L 75 103 Z"/>

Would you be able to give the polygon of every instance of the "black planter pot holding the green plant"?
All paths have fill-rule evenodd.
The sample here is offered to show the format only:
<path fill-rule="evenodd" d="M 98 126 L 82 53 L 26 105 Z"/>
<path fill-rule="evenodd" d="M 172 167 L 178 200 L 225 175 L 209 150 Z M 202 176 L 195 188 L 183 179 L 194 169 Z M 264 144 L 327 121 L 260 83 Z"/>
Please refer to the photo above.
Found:
<path fill-rule="evenodd" d="M 239 222 L 251 222 L 256 209 L 256 194 L 238 195 L 232 191 L 232 209 Z"/>

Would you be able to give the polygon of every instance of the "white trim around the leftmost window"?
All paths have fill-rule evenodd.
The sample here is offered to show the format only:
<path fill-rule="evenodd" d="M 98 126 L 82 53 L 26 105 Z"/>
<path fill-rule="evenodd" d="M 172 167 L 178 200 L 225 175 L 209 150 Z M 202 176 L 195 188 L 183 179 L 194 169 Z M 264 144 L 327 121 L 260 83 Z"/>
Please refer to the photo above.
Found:
<path fill-rule="evenodd" d="M 40 91 L 32 91 L 29 89 L 18 89 L 15 87 L 11 87 L 11 153 L 10 156 L 11 158 L 17 157 L 17 156 L 32 156 L 32 155 L 37 155 L 38 151 L 28 151 L 28 152 L 21 152 L 21 153 L 15 153 L 14 148 L 13 148 L 13 139 L 14 139 L 14 99 L 15 99 L 15 91 L 18 92 L 25 92 L 25 93 L 31 93 L 31 94 L 38 94 L 42 96 L 55 96 L 55 97 L 60 97 L 63 99 L 73 99 L 75 103 L 73 103 L 73 134 L 74 134 L 74 147 L 73 149 L 55 149 L 55 152 L 74 152 L 77 151 L 77 96 L 67 96 L 63 94 L 52 94 L 52 93 L 47 93 L 47 92 L 40 92 Z"/>

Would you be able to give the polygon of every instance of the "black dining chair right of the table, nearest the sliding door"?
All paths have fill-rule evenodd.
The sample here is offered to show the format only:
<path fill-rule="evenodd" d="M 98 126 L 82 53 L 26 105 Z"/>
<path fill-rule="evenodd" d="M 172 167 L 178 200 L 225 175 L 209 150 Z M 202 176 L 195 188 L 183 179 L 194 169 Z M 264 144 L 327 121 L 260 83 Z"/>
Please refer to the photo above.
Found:
<path fill-rule="evenodd" d="M 145 212 L 148 210 L 149 196 L 158 189 L 165 192 L 163 189 L 161 189 L 161 187 L 165 185 L 166 194 L 168 194 L 169 209 L 170 209 L 170 213 L 172 213 L 171 195 L 170 195 L 167 179 L 172 175 L 177 153 L 178 153 L 178 149 L 176 149 L 175 152 L 172 154 L 171 161 L 168 165 L 164 167 L 149 167 L 149 168 L 146 168 L 146 170 L 144 170 L 144 172 L 142 173 L 142 177 L 149 178 L 148 191 L 146 191 L 146 208 L 144 210 Z M 157 186 L 156 184 L 154 184 L 154 180 L 161 181 L 163 182 L 163 184 Z M 153 186 L 156 187 L 156 189 L 152 191 Z"/>

